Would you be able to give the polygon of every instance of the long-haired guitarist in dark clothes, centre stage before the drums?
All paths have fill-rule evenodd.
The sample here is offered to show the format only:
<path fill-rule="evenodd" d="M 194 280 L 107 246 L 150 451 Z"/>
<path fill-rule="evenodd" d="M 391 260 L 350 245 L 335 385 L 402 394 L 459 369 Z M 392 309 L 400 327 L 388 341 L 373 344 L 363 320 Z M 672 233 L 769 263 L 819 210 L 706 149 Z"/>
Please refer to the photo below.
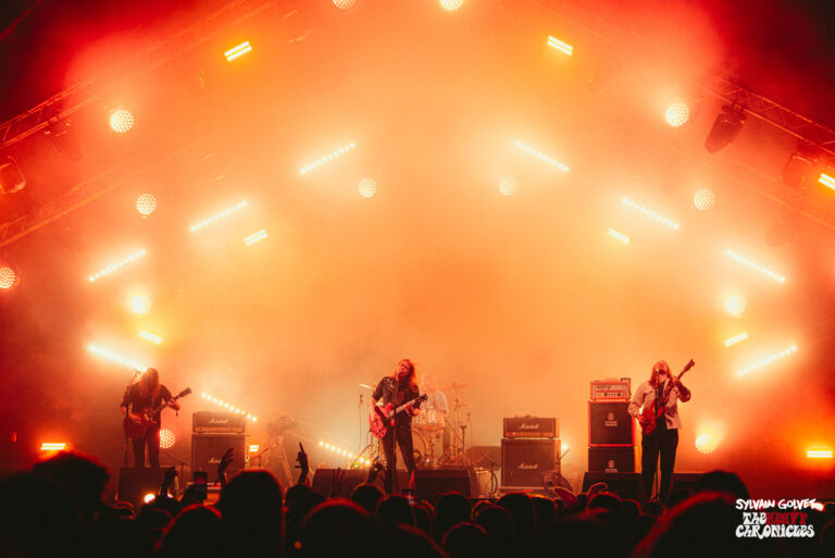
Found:
<path fill-rule="evenodd" d="M 371 396 L 372 411 L 377 401 L 384 405 L 391 404 L 399 407 L 420 396 L 418 379 L 414 372 L 414 362 L 403 359 L 397 363 L 395 372 L 385 376 L 377 383 L 377 387 Z M 420 404 L 419 404 L 420 405 Z M 394 417 L 395 425 L 389 427 L 383 436 L 383 451 L 386 455 L 386 492 L 391 493 L 397 488 L 397 456 L 395 455 L 395 438 L 400 446 L 400 455 L 411 478 L 414 474 L 414 449 L 412 445 L 412 417 L 418 414 L 414 406 L 408 406 Z"/>

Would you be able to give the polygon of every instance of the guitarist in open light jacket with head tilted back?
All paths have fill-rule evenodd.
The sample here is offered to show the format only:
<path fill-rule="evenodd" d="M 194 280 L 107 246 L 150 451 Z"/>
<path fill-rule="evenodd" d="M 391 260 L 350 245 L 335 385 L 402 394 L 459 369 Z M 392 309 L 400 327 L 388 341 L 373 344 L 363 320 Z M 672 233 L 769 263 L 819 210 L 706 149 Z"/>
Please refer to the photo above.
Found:
<path fill-rule="evenodd" d="M 664 394 L 666 399 L 664 400 Z M 641 437 L 640 475 L 644 480 L 645 494 L 652 494 L 652 482 L 656 478 L 659 455 L 661 457 L 661 486 L 659 497 L 666 501 L 670 496 L 670 483 L 675 466 L 675 449 L 678 447 L 678 429 L 682 419 L 678 416 L 678 401 L 690 400 L 690 390 L 670 373 L 666 361 L 660 360 L 652 367 L 652 375 L 635 390 L 630 401 L 630 414 L 641 425 L 645 434 Z M 640 410 L 651 409 L 650 413 L 641 414 Z M 653 419 L 655 417 L 655 419 Z M 656 421 L 655 429 L 647 433 L 647 421 Z"/>

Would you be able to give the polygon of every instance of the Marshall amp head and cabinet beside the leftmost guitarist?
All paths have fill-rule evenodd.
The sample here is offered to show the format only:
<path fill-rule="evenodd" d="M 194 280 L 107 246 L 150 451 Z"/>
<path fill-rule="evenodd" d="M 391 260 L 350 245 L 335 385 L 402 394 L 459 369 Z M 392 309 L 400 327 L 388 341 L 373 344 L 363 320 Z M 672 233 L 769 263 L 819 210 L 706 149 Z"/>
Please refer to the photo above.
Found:
<path fill-rule="evenodd" d="M 208 472 L 209 482 L 212 482 L 221 458 L 229 448 L 233 448 L 234 460 L 226 470 L 226 475 L 230 478 L 244 469 L 247 459 L 247 423 L 242 414 L 200 411 L 191 416 L 191 423 L 192 471 Z"/>

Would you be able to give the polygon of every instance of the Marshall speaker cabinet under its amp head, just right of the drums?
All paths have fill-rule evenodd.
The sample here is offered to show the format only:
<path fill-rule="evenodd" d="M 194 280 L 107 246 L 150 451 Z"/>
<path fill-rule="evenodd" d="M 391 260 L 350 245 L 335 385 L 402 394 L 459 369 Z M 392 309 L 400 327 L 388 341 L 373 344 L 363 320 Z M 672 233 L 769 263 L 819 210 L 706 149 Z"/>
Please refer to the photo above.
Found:
<path fill-rule="evenodd" d="M 543 486 L 545 473 L 556 466 L 553 439 L 501 441 L 501 485 Z"/>

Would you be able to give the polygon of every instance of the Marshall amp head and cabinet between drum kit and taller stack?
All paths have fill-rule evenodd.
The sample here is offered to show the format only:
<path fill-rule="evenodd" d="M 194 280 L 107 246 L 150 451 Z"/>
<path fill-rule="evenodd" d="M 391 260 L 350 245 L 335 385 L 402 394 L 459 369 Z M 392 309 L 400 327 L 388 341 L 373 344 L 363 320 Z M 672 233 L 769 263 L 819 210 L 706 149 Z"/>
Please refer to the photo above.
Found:
<path fill-rule="evenodd" d="M 513 417 L 503 420 L 501 488 L 541 488 L 560 454 L 559 420 Z"/>

